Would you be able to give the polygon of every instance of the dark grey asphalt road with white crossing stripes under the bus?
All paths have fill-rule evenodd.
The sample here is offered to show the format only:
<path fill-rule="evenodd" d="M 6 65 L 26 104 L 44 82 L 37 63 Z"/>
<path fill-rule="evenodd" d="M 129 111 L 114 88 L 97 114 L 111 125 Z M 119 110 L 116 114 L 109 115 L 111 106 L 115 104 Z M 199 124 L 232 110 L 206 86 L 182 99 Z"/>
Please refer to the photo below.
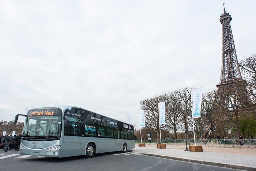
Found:
<path fill-rule="evenodd" d="M 93 158 L 82 156 L 54 158 L 19 155 L 18 151 L 0 149 L 0 171 L 235 171 L 185 161 L 127 153 L 102 153 Z"/>

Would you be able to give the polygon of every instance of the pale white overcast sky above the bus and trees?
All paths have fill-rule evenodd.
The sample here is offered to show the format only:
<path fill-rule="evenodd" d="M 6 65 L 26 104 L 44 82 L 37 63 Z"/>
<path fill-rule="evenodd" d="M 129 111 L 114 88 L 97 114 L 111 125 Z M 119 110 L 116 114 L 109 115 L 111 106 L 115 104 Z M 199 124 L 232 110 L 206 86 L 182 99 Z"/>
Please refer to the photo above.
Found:
<path fill-rule="evenodd" d="M 0 120 L 58 103 L 138 125 L 140 100 L 213 90 L 224 2 L 240 61 L 256 53 L 254 0 L 0 1 Z"/>

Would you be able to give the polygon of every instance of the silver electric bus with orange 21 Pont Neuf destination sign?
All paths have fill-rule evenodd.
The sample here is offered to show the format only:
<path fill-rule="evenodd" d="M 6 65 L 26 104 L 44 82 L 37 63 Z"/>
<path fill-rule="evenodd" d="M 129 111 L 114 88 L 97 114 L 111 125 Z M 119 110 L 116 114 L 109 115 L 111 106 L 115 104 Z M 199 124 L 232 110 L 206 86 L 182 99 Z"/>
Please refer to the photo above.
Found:
<path fill-rule="evenodd" d="M 18 117 L 15 116 L 15 123 Z M 27 111 L 20 154 L 69 157 L 135 148 L 133 126 L 81 107 L 59 106 Z"/>

